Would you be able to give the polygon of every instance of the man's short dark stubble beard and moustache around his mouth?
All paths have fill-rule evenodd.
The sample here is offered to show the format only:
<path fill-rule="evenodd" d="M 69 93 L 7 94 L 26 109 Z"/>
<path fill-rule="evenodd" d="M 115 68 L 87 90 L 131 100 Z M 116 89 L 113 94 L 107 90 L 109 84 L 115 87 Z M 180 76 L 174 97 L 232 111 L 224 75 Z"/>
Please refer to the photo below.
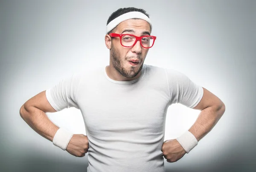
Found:
<path fill-rule="evenodd" d="M 123 64 L 121 64 L 119 52 L 116 51 L 116 49 L 113 46 L 111 47 L 111 49 L 112 49 L 112 51 L 111 51 L 112 65 L 122 76 L 125 76 L 126 78 L 133 78 L 133 77 L 137 76 L 138 73 L 140 73 L 140 70 L 143 68 L 144 61 L 141 64 L 138 71 L 136 71 L 136 67 L 134 67 L 134 66 L 131 66 L 130 70 L 126 70 L 124 68 Z M 134 56 L 126 56 L 125 57 L 125 62 L 128 59 L 131 59 L 133 57 Z M 136 59 L 141 59 L 141 56 L 139 55 Z"/>

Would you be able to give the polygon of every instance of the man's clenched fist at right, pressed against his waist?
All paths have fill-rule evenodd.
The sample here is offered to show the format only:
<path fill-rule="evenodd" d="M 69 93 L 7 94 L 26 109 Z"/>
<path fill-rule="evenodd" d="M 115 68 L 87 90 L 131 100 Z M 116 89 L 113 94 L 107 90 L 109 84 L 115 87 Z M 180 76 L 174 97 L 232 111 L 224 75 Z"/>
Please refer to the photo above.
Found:
<path fill-rule="evenodd" d="M 163 142 L 162 146 L 163 157 L 169 163 L 176 162 L 182 158 L 186 151 L 176 139 L 171 139 Z"/>

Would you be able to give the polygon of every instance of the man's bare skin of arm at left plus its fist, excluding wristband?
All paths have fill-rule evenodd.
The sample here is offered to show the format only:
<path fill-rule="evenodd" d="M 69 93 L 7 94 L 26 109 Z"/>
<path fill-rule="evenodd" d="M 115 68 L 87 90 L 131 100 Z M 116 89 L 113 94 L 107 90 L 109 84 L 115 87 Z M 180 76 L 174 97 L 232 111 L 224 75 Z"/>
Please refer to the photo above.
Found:
<path fill-rule="evenodd" d="M 23 118 L 35 132 L 47 138 L 49 141 L 52 141 L 59 127 L 49 120 L 46 115 L 47 112 L 56 112 L 56 110 L 49 104 L 45 90 L 29 99 L 20 107 L 21 118 Z M 88 152 L 88 147 L 89 144 L 86 135 L 74 134 L 66 150 L 76 157 L 84 157 Z"/>

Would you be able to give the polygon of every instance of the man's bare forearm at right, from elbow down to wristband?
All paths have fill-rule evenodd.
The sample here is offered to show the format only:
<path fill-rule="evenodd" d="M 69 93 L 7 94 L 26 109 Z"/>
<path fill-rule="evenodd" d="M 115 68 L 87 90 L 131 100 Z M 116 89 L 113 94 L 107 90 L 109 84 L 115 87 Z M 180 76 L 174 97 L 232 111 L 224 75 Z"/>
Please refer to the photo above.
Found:
<path fill-rule="evenodd" d="M 219 107 L 211 106 L 201 110 L 195 123 L 189 129 L 189 132 L 191 132 L 198 141 L 201 140 L 212 130 L 215 124 L 217 124 L 224 112 L 224 104 Z"/>

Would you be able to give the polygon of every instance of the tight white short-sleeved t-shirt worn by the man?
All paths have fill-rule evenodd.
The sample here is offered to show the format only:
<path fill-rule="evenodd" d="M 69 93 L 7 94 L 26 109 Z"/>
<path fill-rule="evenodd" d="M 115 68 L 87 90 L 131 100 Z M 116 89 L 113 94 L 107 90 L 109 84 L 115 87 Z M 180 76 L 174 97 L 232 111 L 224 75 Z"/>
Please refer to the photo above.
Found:
<path fill-rule="evenodd" d="M 165 172 L 162 145 L 173 103 L 193 108 L 203 88 L 174 69 L 143 65 L 139 78 L 115 81 L 105 66 L 83 70 L 46 90 L 57 110 L 81 110 L 89 141 L 87 172 Z"/>

